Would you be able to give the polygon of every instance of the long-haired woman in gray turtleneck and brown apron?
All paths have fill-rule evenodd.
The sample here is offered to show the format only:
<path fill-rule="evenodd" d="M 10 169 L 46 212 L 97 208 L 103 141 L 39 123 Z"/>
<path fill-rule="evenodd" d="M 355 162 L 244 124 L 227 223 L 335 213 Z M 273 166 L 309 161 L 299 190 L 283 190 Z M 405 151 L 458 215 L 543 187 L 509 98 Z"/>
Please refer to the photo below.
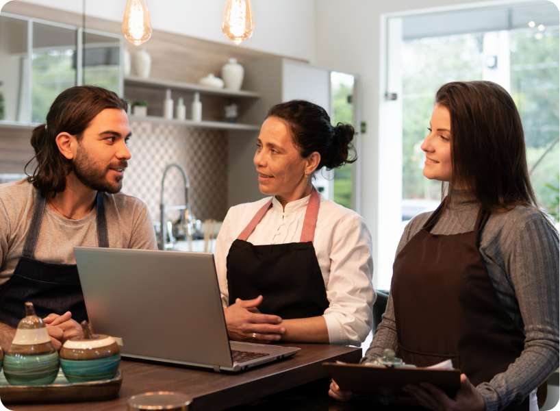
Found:
<path fill-rule="evenodd" d="M 560 242 L 537 206 L 513 99 L 492 82 L 445 84 L 422 150 L 424 176 L 448 195 L 407 225 L 362 362 L 385 348 L 416 366 L 451 360 L 463 372 L 455 398 L 403 388 L 431 410 L 536 411 L 536 388 L 560 366 Z M 329 394 L 352 397 L 335 382 Z"/>

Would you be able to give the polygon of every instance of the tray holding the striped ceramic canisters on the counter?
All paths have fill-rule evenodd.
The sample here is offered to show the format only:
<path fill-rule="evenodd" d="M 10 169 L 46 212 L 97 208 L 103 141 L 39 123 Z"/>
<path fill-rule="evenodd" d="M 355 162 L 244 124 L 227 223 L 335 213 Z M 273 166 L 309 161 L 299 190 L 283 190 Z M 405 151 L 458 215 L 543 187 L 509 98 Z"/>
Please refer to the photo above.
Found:
<path fill-rule="evenodd" d="M 112 379 L 103 381 L 80 382 L 73 384 L 64 377 L 62 369 L 58 370 L 53 384 L 38 386 L 12 386 L 0 372 L 0 401 L 15 403 L 64 403 L 102 401 L 117 397 L 123 384 L 123 373 L 118 370 Z"/>

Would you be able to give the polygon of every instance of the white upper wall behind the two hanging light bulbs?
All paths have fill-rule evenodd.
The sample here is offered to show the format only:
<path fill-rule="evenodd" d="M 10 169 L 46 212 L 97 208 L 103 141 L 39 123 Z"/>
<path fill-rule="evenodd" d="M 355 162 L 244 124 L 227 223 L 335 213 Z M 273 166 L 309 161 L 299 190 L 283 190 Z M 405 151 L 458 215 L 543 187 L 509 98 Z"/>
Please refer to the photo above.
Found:
<path fill-rule="evenodd" d="M 12 0 L 22 1 L 22 0 Z M 82 12 L 81 0 L 25 0 Z M 152 27 L 225 44 L 225 0 L 147 0 Z M 315 0 L 252 0 L 255 31 L 239 47 L 311 60 L 315 47 Z M 123 21 L 126 0 L 86 0 L 86 15 Z M 87 26 L 87 19 L 86 19 Z"/>

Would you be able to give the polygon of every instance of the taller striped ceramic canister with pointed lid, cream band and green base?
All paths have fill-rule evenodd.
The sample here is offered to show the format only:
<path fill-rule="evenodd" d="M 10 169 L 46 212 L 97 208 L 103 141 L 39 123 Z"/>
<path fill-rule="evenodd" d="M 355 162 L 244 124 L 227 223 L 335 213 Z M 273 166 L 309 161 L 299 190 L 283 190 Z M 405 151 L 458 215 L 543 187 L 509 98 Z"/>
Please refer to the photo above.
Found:
<path fill-rule="evenodd" d="M 25 314 L 4 357 L 4 375 L 12 385 L 52 384 L 58 375 L 58 352 L 32 303 L 25 303 Z"/>

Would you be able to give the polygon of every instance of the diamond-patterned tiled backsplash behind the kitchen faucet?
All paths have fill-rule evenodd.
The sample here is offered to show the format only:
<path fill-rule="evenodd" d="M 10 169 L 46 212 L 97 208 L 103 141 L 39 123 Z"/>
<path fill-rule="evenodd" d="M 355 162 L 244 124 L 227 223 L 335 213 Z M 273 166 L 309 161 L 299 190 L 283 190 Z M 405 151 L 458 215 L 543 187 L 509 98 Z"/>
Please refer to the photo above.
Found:
<path fill-rule="evenodd" d="M 168 123 L 133 120 L 129 150 L 132 158 L 123 180 L 123 192 L 147 204 L 154 221 L 160 220 L 162 177 L 172 162 L 185 167 L 190 180 L 189 203 L 196 219 L 222 221 L 227 213 L 227 135 Z M 170 169 L 165 182 L 167 206 L 185 202 L 184 183 L 177 168 Z M 166 219 L 175 220 L 170 210 Z"/>

